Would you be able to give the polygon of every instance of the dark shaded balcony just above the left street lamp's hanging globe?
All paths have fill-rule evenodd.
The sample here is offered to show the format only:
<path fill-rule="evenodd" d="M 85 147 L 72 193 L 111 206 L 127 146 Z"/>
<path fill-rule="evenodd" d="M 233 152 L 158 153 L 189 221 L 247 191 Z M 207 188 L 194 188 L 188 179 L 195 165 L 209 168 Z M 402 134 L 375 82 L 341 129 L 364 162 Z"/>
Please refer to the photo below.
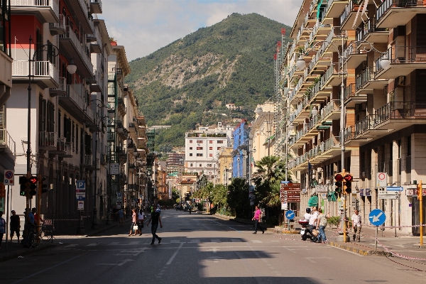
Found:
<path fill-rule="evenodd" d="M 59 43 L 60 49 L 65 50 L 71 58 L 74 58 L 75 65 L 83 77 L 92 77 L 93 65 L 90 62 L 89 48 L 86 43 L 80 42 L 70 26 L 66 26 L 66 33 L 60 35 Z"/>

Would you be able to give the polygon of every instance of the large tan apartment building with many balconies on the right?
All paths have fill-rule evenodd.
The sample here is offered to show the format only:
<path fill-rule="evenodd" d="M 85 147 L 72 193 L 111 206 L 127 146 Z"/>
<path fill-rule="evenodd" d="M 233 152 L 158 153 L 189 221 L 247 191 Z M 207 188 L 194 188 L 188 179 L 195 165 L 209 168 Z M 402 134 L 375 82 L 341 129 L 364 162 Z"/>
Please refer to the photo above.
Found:
<path fill-rule="evenodd" d="M 386 225 L 419 223 L 413 188 L 426 178 L 425 13 L 422 1 L 303 1 L 282 69 L 289 168 L 302 183 L 302 207 L 319 195 L 320 206 L 336 215 L 343 203 L 332 195 L 333 177 L 344 169 L 354 175 L 348 214 L 359 208 L 366 220 L 379 208 Z M 386 173 L 388 186 L 403 187 L 399 200 L 378 198 L 378 173 Z M 317 184 L 329 192 L 318 194 Z"/>

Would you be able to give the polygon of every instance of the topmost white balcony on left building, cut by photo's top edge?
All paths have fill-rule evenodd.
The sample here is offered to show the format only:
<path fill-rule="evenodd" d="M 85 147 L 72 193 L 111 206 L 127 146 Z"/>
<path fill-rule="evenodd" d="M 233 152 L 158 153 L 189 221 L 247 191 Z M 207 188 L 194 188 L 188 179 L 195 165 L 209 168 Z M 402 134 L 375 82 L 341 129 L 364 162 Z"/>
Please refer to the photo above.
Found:
<path fill-rule="evenodd" d="M 11 0 L 11 14 L 35 15 L 42 23 L 57 23 L 58 0 Z"/>

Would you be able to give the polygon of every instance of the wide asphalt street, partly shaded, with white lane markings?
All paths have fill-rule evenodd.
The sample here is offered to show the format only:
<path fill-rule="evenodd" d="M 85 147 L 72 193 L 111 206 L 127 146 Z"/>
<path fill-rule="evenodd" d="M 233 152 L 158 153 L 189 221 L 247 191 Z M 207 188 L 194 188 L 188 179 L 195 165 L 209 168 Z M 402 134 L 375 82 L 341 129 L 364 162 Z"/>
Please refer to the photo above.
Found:
<path fill-rule="evenodd" d="M 252 234 L 249 225 L 205 214 L 163 210 L 161 218 L 161 244 L 150 245 L 147 226 L 142 236 L 127 236 L 129 223 L 102 236 L 57 239 L 53 249 L 0 263 L 0 283 L 426 282 L 421 261 Z"/>

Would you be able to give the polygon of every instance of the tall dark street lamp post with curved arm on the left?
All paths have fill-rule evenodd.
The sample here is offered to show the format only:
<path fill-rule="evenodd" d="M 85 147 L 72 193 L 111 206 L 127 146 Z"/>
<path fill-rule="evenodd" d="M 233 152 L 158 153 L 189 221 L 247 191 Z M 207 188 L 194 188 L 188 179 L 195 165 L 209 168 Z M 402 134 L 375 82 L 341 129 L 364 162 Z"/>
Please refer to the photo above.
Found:
<path fill-rule="evenodd" d="M 29 50 L 28 50 L 28 126 L 27 126 L 27 151 L 26 151 L 26 177 L 29 180 L 30 176 L 31 176 L 31 77 L 33 75 L 31 75 L 31 69 L 35 69 L 35 68 L 31 68 L 31 63 L 34 63 L 35 60 L 35 55 L 37 55 L 37 53 L 33 54 L 33 58 L 31 58 L 31 43 L 33 43 L 33 38 L 29 38 Z M 56 45 L 53 44 L 45 44 L 45 45 L 41 45 L 39 48 L 41 48 L 40 52 L 43 53 L 43 51 L 48 51 L 46 50 L 46 48 L 55 48 L 55 50 L 57 50 L 58 54 L 59 54 L 59 48 Z M 65 55 L 64 55 L 65 56 Z M 54 57 L 55 58 L 55 57 Z M 67 65 L 67 72 L 70 73 L 70 75 L 73 75 L 75 73 L 75 71 L 77 71 L 77 66 L 74 64 L 74 60 L 73 58 L 68 58 L 67 56 L 65 56 L 65 58 L 70 60 L 70 64 Z M 57 189 L 58 190 L 58 189 Z M 40 198 L 40 195 L 38 195 L 38 198 Z M 40 204 L 40 202 L 38 202 L 38 204 Z M 26 214 L 28 214 L 30 212 L 30 198 L 28 198 L 28 194 L 26 195 Z M 40 216 L 40 206 L 37 207 L 37 214 L 38 216 Z M 53 214 L 53 209 L 52 209 L 52 214 Z M 28 223 L 27 218 L 25 218 L 25 224 L 27 225 Z M 38 219 L 38 222 L 40 222 L 40 218 Z M 40 224 L 38 224 L 40 225 Z M 24 235 L 27 236 L 28 234 L 28 226 L 24 226 Z"/>

